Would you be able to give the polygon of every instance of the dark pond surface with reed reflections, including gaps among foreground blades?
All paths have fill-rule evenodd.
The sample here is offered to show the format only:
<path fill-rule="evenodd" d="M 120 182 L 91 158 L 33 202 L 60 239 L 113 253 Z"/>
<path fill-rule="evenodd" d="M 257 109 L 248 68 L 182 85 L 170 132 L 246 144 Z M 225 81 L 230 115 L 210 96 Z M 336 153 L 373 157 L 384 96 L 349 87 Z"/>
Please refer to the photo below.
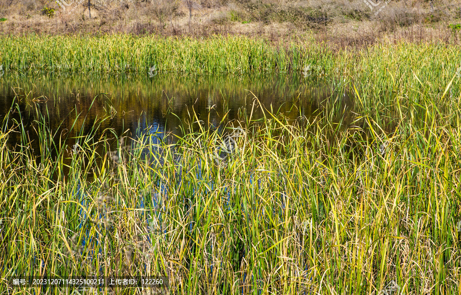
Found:
<path fill-rule="evenodd" d="M 347 91 L 302 74 L 35 74 L 5 75 L 0 77 L 0 83 L 0 122 L 4 131 L 13 126 L 23 131 L 23 135 L 10 132 L 10 148 L 17 148 L 26 134 L 27 148 L 36 155 L 36 161 L 42 162 L 55 158 L 57 150 L 64 147 L 64 175 L 72 162 L 72 147 L 88 142 L 88 138 L 97 142 L 108 134 L 110 146 L 95 146 L 101 155 L 108 149 L 115 152 L 122 135 L 132 139 L 147 135 L 144 140 L 150 139 L 152 144 L 165 140 L 174 144 L 178 136 L 191 132 L 191 126 L 199 131 L 197 122 L 205 129 L 229 123 L 245 128 L 245 117 L 250 114 L 252 121 L 263 119 L 264 113 L 270 118 L 271 112 L 283 114 L 288 122 L 304 123 L 327 116 L 329 123 L 339 124 L 339 129 L 338 125 L 334 127 L 337 130 L 358 124 L 354 122 L 354 101 Z M 17 122 L 22 124 L 17 127 Z M 51 133 L 60 147 L 44 143 L 47 139 L 39 136 L 39 129 L 45 130 L 41 134 Z M 158 150 L 146 151 L 151 152 L 158 154 Z"/>

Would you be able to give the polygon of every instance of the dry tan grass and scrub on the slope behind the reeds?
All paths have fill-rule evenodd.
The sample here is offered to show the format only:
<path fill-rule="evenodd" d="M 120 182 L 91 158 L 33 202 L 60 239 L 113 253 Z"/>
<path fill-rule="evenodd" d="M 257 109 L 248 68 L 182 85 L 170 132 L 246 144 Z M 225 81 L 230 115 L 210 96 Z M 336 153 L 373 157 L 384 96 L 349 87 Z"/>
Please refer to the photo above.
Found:
<path fill-rule="evenodd" d="M 11 0 L 9 0 L 11 1 Z M 372 0 L 370 0 L 372 1 Z M 3 34 L 159 34 L 209 36 L 241 34 L 270 41 L 313 34 L 319 42 L 344 47 L 367 46 L 383 37 L 411 42 L 457 43 L 461 8 L 454 0 L 384 1 L 372 11 L 360 0 L 277 1 L 197 0 L 189 9 L 180 0 L 92 0 L 88 8 L 72 3 L 66 10 L 43 0 L 12 0 L 0 4 Z M 85 2 L 86 3 L 86 2 Z M 432 4 L 431 4 L 432 3 Z M 53 17 L 41 13 L 44 6 L 56 9 Z M 375 12 L 381 11 L 375 15 Z"/>

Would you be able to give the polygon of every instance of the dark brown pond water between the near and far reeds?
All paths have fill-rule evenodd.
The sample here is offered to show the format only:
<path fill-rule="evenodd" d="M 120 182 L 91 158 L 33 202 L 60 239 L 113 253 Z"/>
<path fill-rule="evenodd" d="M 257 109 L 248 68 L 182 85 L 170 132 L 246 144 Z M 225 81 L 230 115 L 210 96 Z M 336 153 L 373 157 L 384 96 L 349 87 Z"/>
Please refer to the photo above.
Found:
<path fill-rule="evenodd" d="M 252 119 L 262 118 L 255 96 L 267 110 L 279 111 L 292 120 L 309 120 L 327 111 L 328 106 L 340 104 L 342 111 L 336 120 L 346 125 L 353 121 L 354 103 L 348 93 L 294 74 L 152 78 L 33 75 L 3 76 L 0 83 L 0 120 L 4 121 L 16 102 L 19 111 L 9 116 L 8 126 L 13 124 L 12 119 L 22 119 L 29 131 L 33 131 L 32 122 L 41 114 L 52 132 L 71 130 L 75 123 L 74 132 L 86 133 L 94 122 L 109 116 L 100 126 L 112 128 L 116 134 L 128 131 L 133 135 L 150 128 L 182 135 L 181 127 L 197 121 L 194 112 L 205 125 L 209 122 L 215 127 L 242 120 L 252 109 Z M 35 139 L 34 132 L 29 136 Z M 66 144 L 74 143 L 71 140 Z"/>

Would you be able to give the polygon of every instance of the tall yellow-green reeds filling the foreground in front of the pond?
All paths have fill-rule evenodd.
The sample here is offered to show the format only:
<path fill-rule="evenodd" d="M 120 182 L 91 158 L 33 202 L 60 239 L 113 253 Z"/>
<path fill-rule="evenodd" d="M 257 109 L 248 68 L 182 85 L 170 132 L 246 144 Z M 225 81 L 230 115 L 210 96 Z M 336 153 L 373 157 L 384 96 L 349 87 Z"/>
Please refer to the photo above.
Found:
<path fill-rule="evenodd" d="M 246 113 L 246 134 L 225 166 L 211 144 L 222 135 L 206 122 L 174 145 L 153 143 L 163 161 L 152 153 L 149 163 L 145 134 L 113 163 L 97 148 L 110 130 L 77 132 L 74 154 L 38 117 L 42 158 L 34 161 L 22 122 L 2 128 L 2 277 L 37 275 L 44 264 L 63 276 L 161 274 L 176 293 L 371 292 L 394 278 L 403 292 L 451 293 L 459 288 L 461 130 L 450 122 L 461 112 L 447 103 L 444 116 L 425 88 L 402 91 L 411 99 L 397 102 L 406 115 L 397 112 L 392 135 L 380 130 L 379 113 L 348 129 L 328 110 L 307 126 L 267 110 L 254 123 Z M 23 148 L 13 151 L 15 130 Z"/>

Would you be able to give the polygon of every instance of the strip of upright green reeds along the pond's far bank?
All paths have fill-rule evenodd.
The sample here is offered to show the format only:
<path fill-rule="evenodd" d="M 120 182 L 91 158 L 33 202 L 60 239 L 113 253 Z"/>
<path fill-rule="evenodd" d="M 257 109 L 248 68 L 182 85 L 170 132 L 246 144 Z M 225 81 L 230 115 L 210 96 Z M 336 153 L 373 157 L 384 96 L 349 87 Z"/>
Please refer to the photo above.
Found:
<path fill-rule="evenodd" d="M 243 37 L 194 38 L 112 35 L 2 38 L 4 68 L 11 71 L 97 73 L 248 73 L 302 67 L 260 40 Z M 296 56 L 302 57 L 300 54 Z"/>

